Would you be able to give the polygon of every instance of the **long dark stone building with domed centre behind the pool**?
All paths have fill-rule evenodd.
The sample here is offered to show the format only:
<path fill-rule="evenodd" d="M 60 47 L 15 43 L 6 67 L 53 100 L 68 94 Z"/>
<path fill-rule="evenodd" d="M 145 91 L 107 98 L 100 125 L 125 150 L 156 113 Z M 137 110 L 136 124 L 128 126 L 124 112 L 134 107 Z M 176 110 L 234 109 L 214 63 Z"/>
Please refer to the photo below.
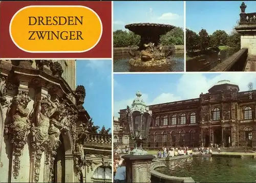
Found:
<path fill-rule="evenodd" d="M 162 146 L 209 146 L 256 148 L 256 90 L 247 91 L 223 80 L 199 98 L 151 105 L 153 112 L 147 144 Z M 120 110 L 120 124 L 127 128 L 126 109 Z M 132 144 L 131 144 L 132 145 Z"/>

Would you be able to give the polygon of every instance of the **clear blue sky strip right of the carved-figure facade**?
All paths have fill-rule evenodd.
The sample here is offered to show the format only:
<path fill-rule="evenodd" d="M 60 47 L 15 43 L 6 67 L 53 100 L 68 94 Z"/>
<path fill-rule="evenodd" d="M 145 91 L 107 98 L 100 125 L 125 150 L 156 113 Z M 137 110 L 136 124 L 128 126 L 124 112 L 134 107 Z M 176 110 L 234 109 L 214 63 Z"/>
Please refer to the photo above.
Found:
<path fill-rule="evenodd" d="M 111 128 L 113 121 L 111 71 L 111 60 L 76 61 L 76 84 L 86 88 L 83 107 L 100 129 Z"/>

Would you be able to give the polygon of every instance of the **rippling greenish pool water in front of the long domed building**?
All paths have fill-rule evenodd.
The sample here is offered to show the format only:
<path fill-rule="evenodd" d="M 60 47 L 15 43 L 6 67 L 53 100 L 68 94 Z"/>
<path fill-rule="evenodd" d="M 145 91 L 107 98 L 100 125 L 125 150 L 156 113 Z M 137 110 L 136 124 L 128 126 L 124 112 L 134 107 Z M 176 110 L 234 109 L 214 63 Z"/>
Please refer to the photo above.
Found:
<path fill-rule="evenodd" d="M 256 182 L 256 158 L 188 157 L 155 170 L 195 182 Z"/>

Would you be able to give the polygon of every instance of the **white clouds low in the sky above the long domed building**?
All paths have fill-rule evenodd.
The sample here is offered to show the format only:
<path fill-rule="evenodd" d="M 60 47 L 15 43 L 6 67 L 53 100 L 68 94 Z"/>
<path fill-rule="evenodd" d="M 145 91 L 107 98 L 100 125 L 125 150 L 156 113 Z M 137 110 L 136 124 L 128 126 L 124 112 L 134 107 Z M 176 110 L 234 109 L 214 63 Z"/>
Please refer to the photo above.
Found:
<path fill-rule="evenodd" d="M 199 98 L 201 93 L 208 93 L 208 89 L 221 80 L 229 80 L 230 82 L 239 85 L 240 91 L 249 90 L 249 82 L 252 82 L 252 86 L 254 87 L 253 89 L 255 89 L 256 86 L 256 75 L 253 73 L 224 73 L 210 79 L 206 78 L 203 74 L 187 73 L 181 76 L 178 85 L 175 86 L 176 88 L 173 87 L 173 83 L 170 83 L 170 86 L 172 86 L 170 90 L 173 90 L 173 93 L 162 93 L 151 101 L 148 100 L 148 94 L 142 94 L 142 98 L 147 105 Z M 114 83 L 118 86 L 121 85 L 116 81 L 114 81 Z M 114 100 L 114 115 L 118 117 L 119 110 L 125 109 L 127 105 L 130 106 L 134 99 L 135 95 L 134 98 L 130 99 L 123 99 L 120 101 Z"/>

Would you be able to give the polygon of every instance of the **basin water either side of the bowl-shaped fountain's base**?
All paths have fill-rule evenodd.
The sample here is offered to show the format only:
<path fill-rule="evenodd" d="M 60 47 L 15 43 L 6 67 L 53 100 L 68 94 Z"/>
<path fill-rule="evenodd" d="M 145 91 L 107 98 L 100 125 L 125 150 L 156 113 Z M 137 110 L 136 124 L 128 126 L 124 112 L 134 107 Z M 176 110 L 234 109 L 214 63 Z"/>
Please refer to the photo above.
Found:
<path fill-rule="evenodd" d="M 114 72 L 131 72 L 128 61 L 132 57 L 129 53 L 114 54 L 113 69 Z M 184 71 L 184 53 L 175 53 L 172 57 L 174 64 L 172 64 L 169 70 L 164 72 L 183 72 Z"/>

